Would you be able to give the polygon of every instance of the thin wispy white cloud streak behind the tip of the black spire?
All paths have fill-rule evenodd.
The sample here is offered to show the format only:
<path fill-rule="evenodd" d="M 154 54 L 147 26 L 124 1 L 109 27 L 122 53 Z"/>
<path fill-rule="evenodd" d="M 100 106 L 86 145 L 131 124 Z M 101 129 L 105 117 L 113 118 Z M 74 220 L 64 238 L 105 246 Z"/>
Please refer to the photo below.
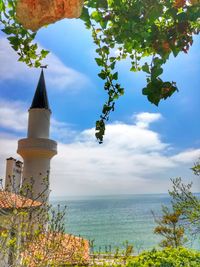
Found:
<path fill-rule="evenodd" d="M 38 70 L 28 68 L 25 63 L 18 62 L 17 53 L 12 50 L 6 38 L 0 38 L 0 79 L 23 80 L 34 82 L 38 78 Z M 90 83 L 89 78 L 64 65 L 53 53 L 44 60 L 48 64 L 46 80 L 50 88 L 54 90 L 74 90 L 84 88 Z"/>

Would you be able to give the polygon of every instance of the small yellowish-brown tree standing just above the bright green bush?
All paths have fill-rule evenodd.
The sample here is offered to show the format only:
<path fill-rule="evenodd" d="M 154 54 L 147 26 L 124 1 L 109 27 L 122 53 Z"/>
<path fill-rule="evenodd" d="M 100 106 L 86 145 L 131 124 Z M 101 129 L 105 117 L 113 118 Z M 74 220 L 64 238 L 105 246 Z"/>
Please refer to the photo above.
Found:
<path fill-rule="evenodd" d="M 154 229 L 154 233 L 161 235 L 164 239 L 161 241 L 161 247 L 177 248 L 182 246 L 187 239 L 184 238 L 184 227 L 180 225 L 181 211 L 169 211 L 169 208 L 162 207 L 162 218 L 155 218 L 158 224 Z"/>

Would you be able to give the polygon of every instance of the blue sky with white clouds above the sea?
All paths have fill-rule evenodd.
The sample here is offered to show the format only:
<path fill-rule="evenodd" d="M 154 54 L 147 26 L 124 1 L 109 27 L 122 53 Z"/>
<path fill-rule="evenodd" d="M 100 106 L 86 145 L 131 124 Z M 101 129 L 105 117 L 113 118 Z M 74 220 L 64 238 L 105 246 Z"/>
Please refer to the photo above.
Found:
<path fill-rule="evenodd" d="M 36 40 L 51 51 L 44 64 L 50 107 L 51 138 L 58 155 L 51 162 L 52 196 L 164 193 L 170 178 L 200 182 L 191 172 L 200 157 L 200 38 L 188 54 L 171 57 L 163 79 L 176 81 L 179 92 L 159 107 L 142 95 L 145 74 L 119 63 L 125 95 L 106 127 L 104 143 L 95 139 L 95 121 L 106 99 L 97 77 L 95 45 L 79 20 L 63 20 L 39 30 Z M 5 159 L 16 154 L 26 137 L 28 108 L 40 70 L 17 62 L 0 34 L 0 177 Z"/>

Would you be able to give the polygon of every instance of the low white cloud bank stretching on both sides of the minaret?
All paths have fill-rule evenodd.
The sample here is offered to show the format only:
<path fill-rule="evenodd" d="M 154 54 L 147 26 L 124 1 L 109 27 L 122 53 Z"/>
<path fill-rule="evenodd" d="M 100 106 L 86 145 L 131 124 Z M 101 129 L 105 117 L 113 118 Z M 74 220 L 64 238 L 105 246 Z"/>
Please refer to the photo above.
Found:
<path fill-rule="evenodd" d="M 25 104 L 0 100 L 0 112 L 4 114 L 0 127 L 25 134 Z M 164 143 L 161 136 L 149 128 L 160 118 L 160 114 L 139 113 L 133 124 L 109 124 L 102 145 L 96 142 L 94 129 L 78 133 L 71 130 L 71 125 L 52 119 L 53 138 L 59 140 L 58 155 L 51 165 L 53 194 L 166 192 L 171 177 L 189 176 L 190 181 L 189 168 L 199 157 L 200 149 L 173 153 L 172 145 Z M 17 156 L 17 139 L 1 135 L 1 177 L 5 172 L 5 159 Z M 198 191 L 197 180 L 192 179 L 194 190 Z"/>

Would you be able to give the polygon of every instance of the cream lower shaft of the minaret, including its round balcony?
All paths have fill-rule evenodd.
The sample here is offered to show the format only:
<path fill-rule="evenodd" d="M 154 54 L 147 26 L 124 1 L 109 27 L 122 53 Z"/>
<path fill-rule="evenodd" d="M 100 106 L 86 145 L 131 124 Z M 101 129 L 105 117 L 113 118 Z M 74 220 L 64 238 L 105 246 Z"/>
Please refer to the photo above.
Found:
<path fill-rule="evenodd" d="M 50 160 L 57 154 L 57 143 L 45 138 L 25 138 L 19 140 L 17 152 L 24 159 L 23 188 L 32 187 L 27 197 L 44 202 L 49 195 L 48 183 L 44 180 L 50 172 Z"/>

